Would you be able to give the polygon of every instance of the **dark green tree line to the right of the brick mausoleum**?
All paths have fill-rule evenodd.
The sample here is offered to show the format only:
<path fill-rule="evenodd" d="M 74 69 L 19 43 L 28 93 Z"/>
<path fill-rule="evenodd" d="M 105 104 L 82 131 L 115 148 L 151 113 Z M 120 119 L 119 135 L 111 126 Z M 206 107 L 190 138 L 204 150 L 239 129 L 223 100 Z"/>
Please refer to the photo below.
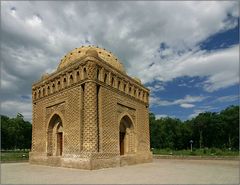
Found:
<path fill-rule="evenodd" d="M 152 148 L 172 150 L 195 148 L 239 149 L 239 106 L 230 106 L 221 112 L 204 112 L 197 117 L 181 121 L 177 118 L 150 120 Z"/>

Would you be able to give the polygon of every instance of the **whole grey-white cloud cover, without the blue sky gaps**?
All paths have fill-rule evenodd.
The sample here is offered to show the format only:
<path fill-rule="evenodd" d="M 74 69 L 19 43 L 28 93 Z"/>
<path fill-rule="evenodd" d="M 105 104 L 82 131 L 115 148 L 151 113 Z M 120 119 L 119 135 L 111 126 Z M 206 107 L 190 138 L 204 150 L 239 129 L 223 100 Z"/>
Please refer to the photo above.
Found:
<path fill-rule="evenodd" d="M 238 2 L 2 1 L 2 102 L 17 103 L 19 94 L 31 94 L 31 84 L 41 73 L 53 71 L 61 57 L 86 43 L 111 50 L 128 74 L 143 82 L 186 75 L 207 77 L 202 84 L 207 91 L 236 84 L 237 46 L 212 53 L 197 47 L 209 36 L 236 26 L 228 14 L 238 17 Z M 168 46 L 162 51 L 165 58 L 159 56 L 160 43 Z M 153 91 L 163 90 L 162 82 Z M 172 103 L 194 102 L 160 104 Z"/>

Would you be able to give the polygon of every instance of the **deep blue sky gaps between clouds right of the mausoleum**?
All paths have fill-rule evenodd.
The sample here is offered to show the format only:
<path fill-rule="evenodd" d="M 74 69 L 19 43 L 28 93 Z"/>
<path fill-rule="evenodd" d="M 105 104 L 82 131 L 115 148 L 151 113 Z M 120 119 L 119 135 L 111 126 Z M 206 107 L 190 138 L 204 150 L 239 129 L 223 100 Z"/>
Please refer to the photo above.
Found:
<path fill-rule="evenodd" d="M 230 48 L 237 44 L 239 44 L 239 19 L 238 24 L 234 28 L 211 35 L 206 40 L 199 43 L 199 47 L 200 50 L 211 52 L 223 48 Z M 164 50 L 166 46 L 161 44 L 160 48 L 159 52 Z M 150 111 L 156 114 L 157 118 L 169 116 L 187 120 L 195 117 L 200 112 L 219 112 L 230 105 L 239 105 L 239 84 L 233 84 L 226 88 L 208 92 L 201 86 L 201 83 L 206 81 L 206 78 L 207 77 L 183 76 L 162 84 L 162 89 L 153 92 L 153 97 L 161 97 L 161 99 L 169 102 L 179 100 L 186 95 L 202 97 L 202 99 L 193 101 L 191 104 L 188 104 L 188 106 L 181 106 L 180 103 L 175 103 L 173 105 L 171 105 L 171 103 L 165 105 L 152 103 Z M 156 81 L 153 81 L 146 85 L 152 88 L 157 84 Z"/>

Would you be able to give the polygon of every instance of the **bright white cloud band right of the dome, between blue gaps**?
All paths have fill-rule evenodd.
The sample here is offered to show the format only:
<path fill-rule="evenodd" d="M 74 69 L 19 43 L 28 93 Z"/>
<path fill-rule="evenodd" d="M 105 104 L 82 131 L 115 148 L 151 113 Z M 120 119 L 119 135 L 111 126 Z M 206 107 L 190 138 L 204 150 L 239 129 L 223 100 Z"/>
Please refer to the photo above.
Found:
<path fill-rule="evenodd" d="M 210 53 L 190 51 L 182 56 L 175 54 L 175 57 L 169 61 L 164 62 L 161 59 L 161 61 L 155 62 L 141 74 L 147 77 L 145 82 L 151 82 L 154 79 L 167 82 L 182 76 L 208 77 L 202 83 L 202 87 L 204 90 L 212 92 L 239 82 L 238 52 L 239 46 L 236 45 Z M 184 84 L 179 86 L 181 85 Z"/>

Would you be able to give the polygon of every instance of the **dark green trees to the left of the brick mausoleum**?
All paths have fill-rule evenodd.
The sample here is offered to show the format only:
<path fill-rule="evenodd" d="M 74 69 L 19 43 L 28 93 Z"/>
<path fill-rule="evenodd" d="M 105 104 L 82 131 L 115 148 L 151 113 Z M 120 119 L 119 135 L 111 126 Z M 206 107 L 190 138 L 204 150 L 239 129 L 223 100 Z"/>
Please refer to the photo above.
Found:
<path fill-rule="evenodd" d="M 18 113 L 15 118 L 1 115 L 1 149 L 30 149 L 32 124 Z"/>

